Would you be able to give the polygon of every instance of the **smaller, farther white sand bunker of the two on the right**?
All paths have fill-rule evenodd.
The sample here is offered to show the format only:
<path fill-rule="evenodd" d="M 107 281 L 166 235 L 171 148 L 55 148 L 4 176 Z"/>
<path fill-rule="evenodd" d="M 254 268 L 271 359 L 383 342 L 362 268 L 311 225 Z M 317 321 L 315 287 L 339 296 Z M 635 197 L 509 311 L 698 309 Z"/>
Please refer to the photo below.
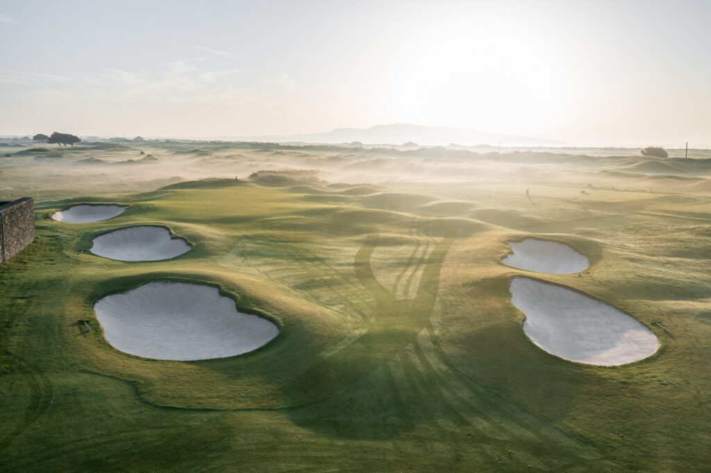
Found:
<path fill-rule="evenodd" d="M 513 254 L 506 256 L 501 262 L 513 268 L 540 273 L 570 274 L 579 273 L 590 266 L 586 256 L 566 244 L 527 238 L 510 245 Z"/>

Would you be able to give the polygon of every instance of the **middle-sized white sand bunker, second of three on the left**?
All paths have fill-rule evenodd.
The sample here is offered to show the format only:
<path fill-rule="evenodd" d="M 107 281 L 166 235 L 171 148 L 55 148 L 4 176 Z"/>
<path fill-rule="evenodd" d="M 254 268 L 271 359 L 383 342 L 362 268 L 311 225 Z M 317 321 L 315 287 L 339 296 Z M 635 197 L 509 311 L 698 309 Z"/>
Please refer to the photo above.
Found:
<path fill-rule="evenodd" d="M 96 237 L 93 254 L 121 261 L 156 261 L 171 259 L 190 251 L 190 245 L 163 227 L 127 227 Z"/>

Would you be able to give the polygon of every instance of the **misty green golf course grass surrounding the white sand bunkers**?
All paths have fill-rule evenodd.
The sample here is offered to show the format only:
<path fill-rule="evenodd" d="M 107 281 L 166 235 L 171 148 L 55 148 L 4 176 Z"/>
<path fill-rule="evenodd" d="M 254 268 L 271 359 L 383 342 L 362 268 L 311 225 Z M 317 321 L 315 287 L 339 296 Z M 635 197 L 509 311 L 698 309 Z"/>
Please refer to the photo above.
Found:
<path fill-rule="evenodd" d="M 198 141 L 0 152 L 0 200 L 34 197 L 37 229 L 0 266 L 2 471 L 711 468 L 710 159 Z M 50 218 L 79 203 L 129 207 Z M 191 251 L 90 253 L 140 224 Z M 523 237 L 569 244 L 589 269 L 503 265 Z M 659 349 L 614 367 L 544 352 L 511 303 L 517 275 L 609 303 Z M 149 281 L 217 286 L 279 335 L 222 359 L 119 352 L 92 305 Z"/>

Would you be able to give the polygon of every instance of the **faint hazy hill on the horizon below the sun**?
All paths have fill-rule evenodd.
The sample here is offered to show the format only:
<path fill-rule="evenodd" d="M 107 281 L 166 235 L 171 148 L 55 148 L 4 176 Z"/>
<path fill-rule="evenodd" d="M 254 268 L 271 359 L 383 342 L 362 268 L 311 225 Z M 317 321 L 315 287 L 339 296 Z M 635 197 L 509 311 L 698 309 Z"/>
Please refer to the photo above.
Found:
<path fill-rule="evenodd" d="M 365 144 L 402 144 L 414 142 L 422 145 L 449 145 L 450 143 L 462 145 L 498 143 L 502 145 L 563 144 L 562 141 L 533 138 L 530 136 L 502 135 L 471 128 L 412 124 L 378 125 L 366 129 L 339 128 L 328 131 L 327 133 L 303 135 L 240 136 L 237 138 L 244 141 L 303 141 L 305 143 L 351 143 L 353 141 L 360 141 L 360 143 Z"/>

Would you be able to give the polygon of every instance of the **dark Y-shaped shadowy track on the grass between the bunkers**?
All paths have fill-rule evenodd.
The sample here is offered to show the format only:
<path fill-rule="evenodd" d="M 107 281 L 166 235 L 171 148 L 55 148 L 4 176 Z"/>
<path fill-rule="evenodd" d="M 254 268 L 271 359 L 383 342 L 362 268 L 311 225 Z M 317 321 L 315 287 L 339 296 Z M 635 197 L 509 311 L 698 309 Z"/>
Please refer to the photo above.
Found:
<path fill-rule="evenodd" d="M 442 262 L 454 239 L 442 239 L 434 247 L 422 265 L 417 295 L 411 300 L 397 300 L 376 280 L 370 257 L 379 239 L 378 234 L 368 235 L 355 255 L 355 276 L 377 303 L 368 331 L 289 384 L 292 396 L 319 399 L 314 406 L 289 411 L 289 417 L 326 435 L 392 437 L 424 420 L 407 414 L 410 406 L 397 393 L 392 363 L 409 363 L 407 347 L 417 344 L 417 336 L 429 326 Z"/>

